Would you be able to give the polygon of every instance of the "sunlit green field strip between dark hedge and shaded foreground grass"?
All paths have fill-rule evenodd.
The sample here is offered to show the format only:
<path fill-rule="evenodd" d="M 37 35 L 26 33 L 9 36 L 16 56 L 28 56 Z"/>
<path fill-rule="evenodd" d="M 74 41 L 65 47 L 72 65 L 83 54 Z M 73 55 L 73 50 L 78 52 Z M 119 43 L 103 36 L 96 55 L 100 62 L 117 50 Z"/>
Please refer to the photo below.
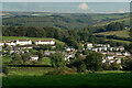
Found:
<path fill-rule="evenodd" d="M 42 76 L 50 70 L 53 70 L 53 67 L 9 67 L 8 76 Z"/>

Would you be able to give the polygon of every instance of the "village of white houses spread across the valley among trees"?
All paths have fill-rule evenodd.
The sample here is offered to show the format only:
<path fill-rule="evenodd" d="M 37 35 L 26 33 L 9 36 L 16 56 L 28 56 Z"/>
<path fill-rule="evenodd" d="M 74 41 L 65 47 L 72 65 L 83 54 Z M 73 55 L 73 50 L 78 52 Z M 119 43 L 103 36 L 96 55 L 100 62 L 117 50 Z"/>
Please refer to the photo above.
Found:
<path fill-rule="evenodd" d="M 15 40 L 15 41 L 2 41 L 0 42 L 0 51 L 2 51 L 2 47 L 8 45 L 11 47 L 10 54 L 20 54 L 20 53 L 29 53 L 30 50 L 33 50 L 33 47 L 38 47 L 40 45 L 51 45 L 52 48 L 55 48 L 55 40 L 36 40 L 35 42 L 32 42 L 31 40 Z M 92 43 L 85 43 L 82 44 L 82 51 L 89 51 L 89 52 L 98 52 L 103 55 L 102 63 L 117 63 L 121 64 L 121 59 L 128 59 L 128 57 L 131 57 L 131 54 L 124 50 L 123 46 L 118 47 L 111 47 L 110 44 L 92 44 Z M 7 54 L 8 50 L 6 48 L 4 54 Z M 77 50 L 74 47 L 64 47 L 64 51 L 48 51 L 46 50 L 44 52 L 45 57 L 50 57 L 51 54 L 55 54 L 56 52 L 62 53 L 65 56 L 65 61 L 70 62 L 70 58 L 74 58 Z M 81 56 L 86 56 L 80 54 Z M 29 57 L 31 61 L 38 61 L 38 55 L 31 55 Z"/>

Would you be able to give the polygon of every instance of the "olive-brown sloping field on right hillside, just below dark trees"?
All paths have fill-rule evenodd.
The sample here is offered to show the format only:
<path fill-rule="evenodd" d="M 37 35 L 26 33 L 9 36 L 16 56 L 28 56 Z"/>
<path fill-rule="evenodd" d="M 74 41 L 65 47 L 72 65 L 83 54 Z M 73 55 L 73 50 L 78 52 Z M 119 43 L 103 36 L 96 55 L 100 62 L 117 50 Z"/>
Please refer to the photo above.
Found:
<path fill-rule="evenodd" d="M 117 35 L 120 37 L 130 37 L 129 35 L 129 31 L 128 30 L 123 30 L 123 31 L 112 31 L 112 32 L 101 32 L 101 33 L 95 33 L 94 35 Z"/>

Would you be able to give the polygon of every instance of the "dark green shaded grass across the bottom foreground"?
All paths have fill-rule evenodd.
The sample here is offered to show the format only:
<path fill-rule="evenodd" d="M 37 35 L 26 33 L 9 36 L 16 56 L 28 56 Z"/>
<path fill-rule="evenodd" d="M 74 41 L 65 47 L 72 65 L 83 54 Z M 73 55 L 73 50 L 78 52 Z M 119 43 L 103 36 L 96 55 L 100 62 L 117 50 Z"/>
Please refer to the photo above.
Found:
<path fill-rule="evenodd" d="M 112 86 L 131 87 L 131 73 L 95 73 L 75 75 L 8 76 L 7 86 Z"/>

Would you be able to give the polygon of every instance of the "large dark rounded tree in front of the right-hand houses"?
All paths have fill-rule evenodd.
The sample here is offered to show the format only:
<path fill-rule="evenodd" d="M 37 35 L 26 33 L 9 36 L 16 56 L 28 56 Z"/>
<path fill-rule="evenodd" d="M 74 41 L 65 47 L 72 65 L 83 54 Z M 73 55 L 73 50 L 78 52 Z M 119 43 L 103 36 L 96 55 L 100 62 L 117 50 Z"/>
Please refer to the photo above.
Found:
<path fill-rule="evenodd" d="M 101 70 L 102 69 L 102 54 L 90 53 L 85 59 L 86 66 L 90 70 Z"/>

